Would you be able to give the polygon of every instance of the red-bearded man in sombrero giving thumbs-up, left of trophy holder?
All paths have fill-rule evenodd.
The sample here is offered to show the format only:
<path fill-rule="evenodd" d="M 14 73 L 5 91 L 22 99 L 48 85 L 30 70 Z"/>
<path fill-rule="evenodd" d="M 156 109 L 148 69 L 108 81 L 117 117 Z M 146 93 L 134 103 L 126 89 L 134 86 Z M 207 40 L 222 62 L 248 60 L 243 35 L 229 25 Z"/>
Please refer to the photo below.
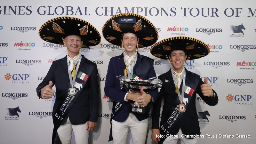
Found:
<path fill-rule="evenodd" d="M 52 144 L 70 144 L 72 131 L 76 144 L 88 142 L 88 131 L 97 124 L 99 78 L 97 65 L 81 55 L 81 48 L 100 43 L 100 34 L 90 23 L 74 17 L 58 17 L 45 22 L 39 36 L 46 42 L 65 45 L 67 56 L 53 61 L 36 88 L 43 99 L 56 100 L 52 110 Z"/>

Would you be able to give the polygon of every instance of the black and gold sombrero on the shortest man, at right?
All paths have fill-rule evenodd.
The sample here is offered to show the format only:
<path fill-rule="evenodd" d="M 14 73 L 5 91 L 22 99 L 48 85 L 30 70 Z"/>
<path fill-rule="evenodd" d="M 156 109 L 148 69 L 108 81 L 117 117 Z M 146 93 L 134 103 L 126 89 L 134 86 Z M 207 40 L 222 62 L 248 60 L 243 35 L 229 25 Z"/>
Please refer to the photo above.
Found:
<path fill-rule="evenodd" d="M 187 60 L 195 60 L 202 58 L 210 53 L 210 48 L 204 42 L 186 36 L 176 36 L 166 38 L 154 44 L 150 53 L 157 58 L 167 60 L 170 52 L 174 50 L 183 50 L 187 54 Z M 190 55 L 190 56 L 189 56 Z"/>

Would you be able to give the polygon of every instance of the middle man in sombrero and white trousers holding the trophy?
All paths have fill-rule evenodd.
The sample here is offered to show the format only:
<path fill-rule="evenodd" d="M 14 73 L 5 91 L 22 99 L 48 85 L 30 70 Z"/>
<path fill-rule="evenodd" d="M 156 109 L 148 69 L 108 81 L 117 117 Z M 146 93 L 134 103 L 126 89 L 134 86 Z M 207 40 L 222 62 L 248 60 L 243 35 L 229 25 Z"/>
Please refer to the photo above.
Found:
<path fill-rule="evenodd" d="M 157 90 L 151 92 L 127 92 L 121 90 L 119 78 L 153 80 L 156 73 L 152 59 L 140 55 L 137 48 L 154 44 L 158 39 L 155 26 L 143 16 L 132 13 L 118 14 L 107 20 L 102 28 L 104 38 L 111 44 L 124 47 L 124 52 L 110 59 L 105 83 L 105 95 L 113 99 L 111 129 L 109 141 L 114 144 L 126 143 L 130 128 L 132 143 L 145 144 L 148 128 L 148 112 L 131 113 L 127 100 L 133 100 L 140 106 L 146 106 L 158 97 Z M 113 135 L 113 139 L 112 139 Z"/>

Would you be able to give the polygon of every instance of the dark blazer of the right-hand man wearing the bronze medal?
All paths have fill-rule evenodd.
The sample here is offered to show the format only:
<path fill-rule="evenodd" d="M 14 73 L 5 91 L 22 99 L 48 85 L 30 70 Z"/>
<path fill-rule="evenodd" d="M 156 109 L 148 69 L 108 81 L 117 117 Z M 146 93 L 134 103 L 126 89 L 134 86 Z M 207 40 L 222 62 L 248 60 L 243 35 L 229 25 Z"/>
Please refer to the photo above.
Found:
<path fill-rule="evenodd" d="M 182 133 L 186 135 L 200 135 L 200 127 L 198 123 L 198 116 L 196 113 L 196 93 L 205 101 L 205 103 L 207 103 L 210 106 L 215 106 L 218 103 L 219 99 L 215 91 L 213 91 L 216 94 L 215 97 L 204 96 L 201 91 L 201 85 L 204 84 L 204 82 L 202 81 L 200 76 L 188 71 L 186 68 L 185 70 L 186 70 L 186 82 L 188 80 L 187 77 L 190 77 L 195 80 L 198 79 L 199 83 L 197 84 L 196 91 L 194 92 L 191 100 L 189 101 L 186 111 L 182 115 L 180 121 L 177 123 L 177 125 L 169 134 L 176 135 L 181 129 Z M 170 114 L 171 108 L 174 106 L 177 106 L 180 103 L 180 101 L 176 99 L 178 97 L 178 94 L 175 93 L 175 85 L 173 82 L 171 69 L 168 72 L 160 75 L 158 78 L 163 81 L 163 85 L 159 92 L 159 98 L 156 100 L 153 106 L 152 129 L 159 128 L 159 115 L 160 115 L 162 99 L 164 99 L 162 118 L 166 117 L 167 114 Z M 181 92 L 181 89 L 182 89 L 182 82 L 180 85 L 180 92 Z M 162 122 L 162 119 L 161 119 L 161 122 Z"/>

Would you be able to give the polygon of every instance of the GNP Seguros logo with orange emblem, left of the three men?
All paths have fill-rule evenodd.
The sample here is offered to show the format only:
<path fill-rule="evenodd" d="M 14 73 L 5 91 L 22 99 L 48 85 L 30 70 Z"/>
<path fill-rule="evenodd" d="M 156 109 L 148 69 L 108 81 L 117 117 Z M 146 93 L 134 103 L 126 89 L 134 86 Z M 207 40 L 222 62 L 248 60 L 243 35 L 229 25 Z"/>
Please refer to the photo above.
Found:
<path fill-rule="evenodd" d="M 6 81 L 12 81 L 12 84 L 28 84 L 30 74 L 10 74 L 6 73 L 4 79 Z"/>

